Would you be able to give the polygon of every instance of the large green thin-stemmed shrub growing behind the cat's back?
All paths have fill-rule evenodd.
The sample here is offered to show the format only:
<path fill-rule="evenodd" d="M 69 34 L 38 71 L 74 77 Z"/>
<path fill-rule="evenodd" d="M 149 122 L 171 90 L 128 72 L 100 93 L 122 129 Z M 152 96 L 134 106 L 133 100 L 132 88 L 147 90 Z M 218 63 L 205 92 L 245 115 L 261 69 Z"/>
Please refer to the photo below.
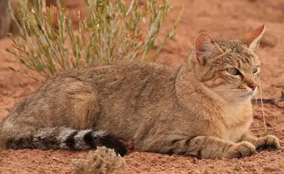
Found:
<path fill-rule="evenodd" d="M 74 30 L 65 0 L 45 7 L 44 0 L 20 0 L 14 8 L 20 33 L 12 37 L 14 54 L 24 68 L 11 70 L 38 80 L 34 72 L 49 78 L 61 71 L 110 63 L 120 59 L 154 60 L 164 44 L 175 35 L 177 21 L 163 42 L 153 49 L 161 26 L 172 6 L 169 0 L 84 0 L 89 16 L 78 12 L 79 28 Z M 10 7 L 10 10 L 13 9 Z"/>

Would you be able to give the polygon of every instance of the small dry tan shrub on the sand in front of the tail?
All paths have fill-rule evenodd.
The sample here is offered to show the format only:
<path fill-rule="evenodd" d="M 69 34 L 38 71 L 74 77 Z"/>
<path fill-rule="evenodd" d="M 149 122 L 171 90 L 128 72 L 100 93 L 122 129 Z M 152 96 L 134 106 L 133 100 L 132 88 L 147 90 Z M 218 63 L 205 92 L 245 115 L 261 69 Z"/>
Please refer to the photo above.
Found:
<path fill-rule="evenodd" d="M 75 174 L 110 174 L 126 165 L 125 160 L 114 149 L 97 147 L 86 159 L 74 159 Z"/>

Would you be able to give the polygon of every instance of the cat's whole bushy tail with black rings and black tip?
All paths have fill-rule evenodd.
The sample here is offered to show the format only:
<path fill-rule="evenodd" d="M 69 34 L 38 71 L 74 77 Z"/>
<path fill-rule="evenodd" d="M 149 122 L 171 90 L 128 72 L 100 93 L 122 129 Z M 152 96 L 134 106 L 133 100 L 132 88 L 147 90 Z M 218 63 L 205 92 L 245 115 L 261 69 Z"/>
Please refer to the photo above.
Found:
<path fill-rule="evenodd" d="M 12 126 L 13 127 L 13 126 Z M 121 156 L 126 154 L 125 146 L 117 137 L 105 131 L 75 130 L 68 127 L 21 129 L 2 127 L 0 141 L 4 149 L 70 149 L 86 150 L 105 146 L 115 149 Z"/>

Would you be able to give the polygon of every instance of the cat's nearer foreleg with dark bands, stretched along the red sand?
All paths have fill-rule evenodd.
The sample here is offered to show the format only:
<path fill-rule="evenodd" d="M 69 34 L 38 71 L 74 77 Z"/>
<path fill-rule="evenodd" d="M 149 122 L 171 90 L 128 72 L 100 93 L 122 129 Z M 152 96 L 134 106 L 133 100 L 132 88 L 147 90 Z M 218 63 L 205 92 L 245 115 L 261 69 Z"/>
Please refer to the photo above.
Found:
<path fill-rule="evenodd" d="M 196 156 L 198 158 L 241 158 L 251 156 L 255 146 L 247 141 L 233 143 L 214 136 L 196 136 L 188 138 L 159 137 L 148 141 L 148 151 Z"/>

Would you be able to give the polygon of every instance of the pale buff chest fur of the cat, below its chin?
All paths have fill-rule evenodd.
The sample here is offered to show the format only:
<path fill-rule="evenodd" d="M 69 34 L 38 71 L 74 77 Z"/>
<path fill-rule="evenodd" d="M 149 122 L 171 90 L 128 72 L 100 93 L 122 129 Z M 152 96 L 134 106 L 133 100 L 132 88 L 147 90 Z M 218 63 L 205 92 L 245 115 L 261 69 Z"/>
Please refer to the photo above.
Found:
<path fill-rule="evenodd" d="M 220 136 L 224 140 L 237 142 L 248 131 L 252 122 L 252 107 L 250 104 L 233 105 L 225 108 L 220 119 Z"/>

